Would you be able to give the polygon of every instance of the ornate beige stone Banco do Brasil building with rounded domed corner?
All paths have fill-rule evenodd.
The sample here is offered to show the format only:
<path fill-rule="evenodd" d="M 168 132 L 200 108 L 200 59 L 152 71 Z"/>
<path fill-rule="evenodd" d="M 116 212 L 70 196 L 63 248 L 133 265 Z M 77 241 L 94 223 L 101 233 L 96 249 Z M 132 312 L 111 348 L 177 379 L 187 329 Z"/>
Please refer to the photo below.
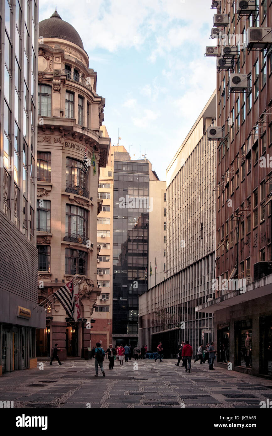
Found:
<path fill-rule="evenodd" d="M 55 342 L 63 349 L 60 358 L 66 353 L 83 357 L 90 347 L 90 318 L 100 295 L 97 190 L 110 144 L 100 130 L 104 106 L 78 32 L 55 11 L 39 23 L 38 285 L 44 300 L 70 280 L 75 289 L 79 284 L 80 315 L 73 320 L 51 296 L 47 327 L 38 331 L 39 355 L 49 354 Z"/>

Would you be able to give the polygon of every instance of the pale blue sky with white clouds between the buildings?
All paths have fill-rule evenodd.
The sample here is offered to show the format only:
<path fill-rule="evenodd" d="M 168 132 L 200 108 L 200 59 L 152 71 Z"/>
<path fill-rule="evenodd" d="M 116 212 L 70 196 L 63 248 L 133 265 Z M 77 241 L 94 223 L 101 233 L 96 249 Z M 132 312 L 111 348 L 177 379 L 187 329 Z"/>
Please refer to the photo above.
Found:
<path fill-rule="evenodd" d="M 57 11 L 78 31 L 106 99 L 112 145 L 152 163 L 160 180 L 216 88 L 204 57 L 210 0 L 40 0 L 39 21 Z M 141 145 L 140 145 L 141 144 Z M 135 156 L 134 156 L 135 155 Z"/>

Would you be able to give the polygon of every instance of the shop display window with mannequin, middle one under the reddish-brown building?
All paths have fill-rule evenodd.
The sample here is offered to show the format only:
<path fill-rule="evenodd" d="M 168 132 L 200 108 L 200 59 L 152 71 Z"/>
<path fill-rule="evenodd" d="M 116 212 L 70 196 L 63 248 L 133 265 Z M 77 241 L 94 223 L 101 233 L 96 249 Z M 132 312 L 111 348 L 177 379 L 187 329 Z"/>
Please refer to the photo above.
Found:
<path fill-rule="evenodd" d="M 235 323 L 235 365 L 252 367 L 252 320 Z"/>

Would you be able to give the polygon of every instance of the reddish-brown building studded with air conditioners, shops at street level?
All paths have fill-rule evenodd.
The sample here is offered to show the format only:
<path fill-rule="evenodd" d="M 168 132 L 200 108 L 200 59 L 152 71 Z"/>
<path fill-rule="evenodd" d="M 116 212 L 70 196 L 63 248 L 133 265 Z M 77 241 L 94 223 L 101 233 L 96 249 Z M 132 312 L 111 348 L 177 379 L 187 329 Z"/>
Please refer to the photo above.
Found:
<path fill-rule="evenodd" d="M 272 377 L 272 4 L 214 3 L 238 38 L 217 74 L 218 289 L 198 310 L 214 313 L 216 365 Z"/>

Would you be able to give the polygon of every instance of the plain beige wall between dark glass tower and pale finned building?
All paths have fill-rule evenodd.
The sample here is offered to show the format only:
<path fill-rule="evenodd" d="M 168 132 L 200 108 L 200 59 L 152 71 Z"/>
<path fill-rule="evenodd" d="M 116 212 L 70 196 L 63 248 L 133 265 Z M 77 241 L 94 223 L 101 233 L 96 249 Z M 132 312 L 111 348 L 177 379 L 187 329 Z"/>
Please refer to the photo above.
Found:
<path fill-rule="evenodd" d="M 165 181 L 149 181 L 149 198 L 152 207 L 149 211 L 148 288 L 162 282 L 166 277 L 166 183 Z M 150 276 L 150 262 L 152 275 Z M 157 265 L 157 269 L 156 269 Z"/>

